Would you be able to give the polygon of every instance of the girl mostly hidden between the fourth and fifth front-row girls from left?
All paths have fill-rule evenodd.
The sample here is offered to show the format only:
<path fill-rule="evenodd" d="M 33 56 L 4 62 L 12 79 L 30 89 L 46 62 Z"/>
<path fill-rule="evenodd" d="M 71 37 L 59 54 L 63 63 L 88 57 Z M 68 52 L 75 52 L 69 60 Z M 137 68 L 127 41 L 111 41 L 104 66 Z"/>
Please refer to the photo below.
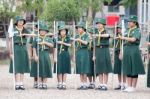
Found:
<path fill-rule="evenodd" d="M 94 89 L 95 88 L 95 71 L 94 71 L 94 61 L 93 61 L 93 32 L 94 29 L 93 28 L 89 28 L 88 29 L 88 33 L 89 33 L 89 58 L 90 58 L 90 73 L 87 75 L 88 79 L 89 79 L 89 89 Z"/>

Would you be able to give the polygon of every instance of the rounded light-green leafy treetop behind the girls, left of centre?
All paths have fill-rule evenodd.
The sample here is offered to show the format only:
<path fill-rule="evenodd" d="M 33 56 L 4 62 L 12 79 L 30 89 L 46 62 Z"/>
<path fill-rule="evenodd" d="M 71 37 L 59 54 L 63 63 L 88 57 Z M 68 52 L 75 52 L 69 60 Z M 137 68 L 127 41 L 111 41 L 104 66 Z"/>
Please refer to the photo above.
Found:
<path fill-rule="evenodd" d="M 41 18 L 71 21 L 80 17 L 76 0 L 49 0 Z"/>

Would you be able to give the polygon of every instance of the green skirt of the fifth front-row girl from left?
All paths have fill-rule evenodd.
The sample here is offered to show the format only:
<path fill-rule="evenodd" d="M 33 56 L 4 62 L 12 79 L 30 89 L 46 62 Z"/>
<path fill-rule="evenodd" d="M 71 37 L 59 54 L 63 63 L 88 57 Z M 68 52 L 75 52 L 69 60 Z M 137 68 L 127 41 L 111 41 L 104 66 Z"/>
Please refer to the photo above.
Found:
<path fill-rule="evenodd" d="M 111 73 L 109 48 L 96 48 L 96 74 Z"/>

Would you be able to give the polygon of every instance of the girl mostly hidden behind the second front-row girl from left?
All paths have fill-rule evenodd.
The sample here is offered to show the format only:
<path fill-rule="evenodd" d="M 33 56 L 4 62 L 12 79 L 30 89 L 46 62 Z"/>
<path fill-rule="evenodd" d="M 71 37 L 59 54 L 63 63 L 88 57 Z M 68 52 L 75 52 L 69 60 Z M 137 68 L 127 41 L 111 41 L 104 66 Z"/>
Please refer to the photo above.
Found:
<path fill-rule="evenodd" d="M 38 34 L 38 24 L 35 24 L 35 27 L 34 27 L 34 34 Z M 29 44 L 30 44 L 30 59 L 31 59 L 31 71 L 30 71 L 30 76 L 31 77 L 34 77 L 34 85 L 33 87 L 34 88 L 38 88 L 38 75 L 37 75 L 37 63 L 34 59 L 34 56 L 33 56 L 33 41 L 34 41 L 35 37 L 32 37 L 30 38 L 30 41 L 29 41 Z"/>

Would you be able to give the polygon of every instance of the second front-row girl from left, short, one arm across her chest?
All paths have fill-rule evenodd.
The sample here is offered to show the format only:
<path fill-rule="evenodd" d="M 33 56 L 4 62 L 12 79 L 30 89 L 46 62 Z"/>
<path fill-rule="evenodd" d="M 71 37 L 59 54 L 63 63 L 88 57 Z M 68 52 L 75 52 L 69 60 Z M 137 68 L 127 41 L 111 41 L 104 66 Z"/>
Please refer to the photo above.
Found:
<path fill-rule="evenodd" d="M 46 36 L 49 32 L 45 24 L 39 27 L 40 36 L 35 38 L 33 44 L 33 54 L 37 64 L 39 64 L 39 89 L 47 89 L 47 78 L 52 78 L 50 48 L 53 47 L 53 39 Z M 39 55 L 38 55 L 39 54 Z"/>

